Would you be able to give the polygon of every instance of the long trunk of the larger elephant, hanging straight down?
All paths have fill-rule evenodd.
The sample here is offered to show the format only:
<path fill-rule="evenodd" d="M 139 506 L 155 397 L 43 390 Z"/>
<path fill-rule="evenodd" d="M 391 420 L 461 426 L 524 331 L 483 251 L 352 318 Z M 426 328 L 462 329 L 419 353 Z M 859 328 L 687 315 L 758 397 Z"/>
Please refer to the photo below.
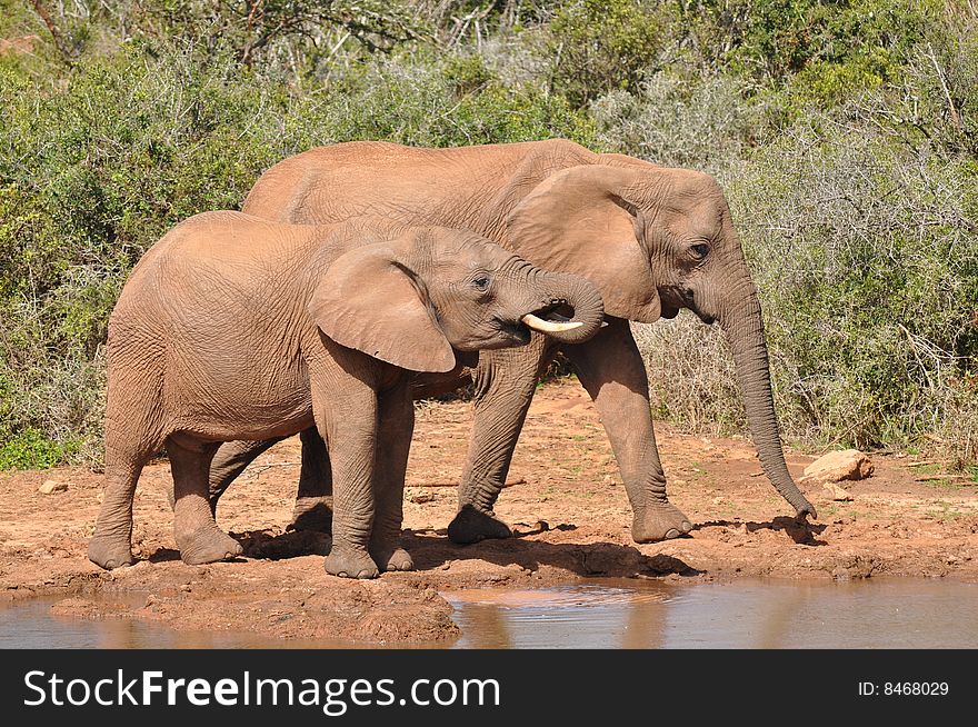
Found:
<path fill-rule="evenodd" d="M 808 514 L 816 518 L 815 507 L 798 489 L 785 462 L 771 392 L 760 301 L 749 278 L 741 279 L 728 301 L 720 325 L 734 353 L 737 381 L 761 467 L 778 492 L 795 507 L 798 517 Z"/>

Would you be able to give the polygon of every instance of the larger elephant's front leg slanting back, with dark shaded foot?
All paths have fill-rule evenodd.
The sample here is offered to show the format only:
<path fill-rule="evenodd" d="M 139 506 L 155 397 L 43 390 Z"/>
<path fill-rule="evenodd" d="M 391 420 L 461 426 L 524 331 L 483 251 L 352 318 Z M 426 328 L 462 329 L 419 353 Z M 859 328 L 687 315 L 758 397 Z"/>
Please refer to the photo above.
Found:
<path fill-rule="evenodd" d="M 496 504 L 527 418 L 543 362 L 553 346 L 533 335 L 522 348 L 482 351 L 475 375 L 475 418 L 469 456 L 459 487 L 459 511 L 448 526 L 452 542 L 465 545 L 512 536 L 496 517 Z"/>

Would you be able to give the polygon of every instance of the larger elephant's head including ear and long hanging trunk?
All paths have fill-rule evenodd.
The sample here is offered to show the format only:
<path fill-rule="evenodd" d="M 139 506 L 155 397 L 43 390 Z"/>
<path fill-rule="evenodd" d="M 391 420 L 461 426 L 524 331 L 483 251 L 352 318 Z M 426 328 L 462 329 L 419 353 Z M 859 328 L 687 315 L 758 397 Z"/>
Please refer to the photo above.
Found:
<path fill-rule="evenodd" d="M 719 322 L 761 466 L 799 517 L 816 516 L 785 462 L 760 302 L 716 180 L 608 155 L 548 177 L 507 227 L 528 260 L 592 280 L 609 316 L 652 322 L 688 308 Z"/>

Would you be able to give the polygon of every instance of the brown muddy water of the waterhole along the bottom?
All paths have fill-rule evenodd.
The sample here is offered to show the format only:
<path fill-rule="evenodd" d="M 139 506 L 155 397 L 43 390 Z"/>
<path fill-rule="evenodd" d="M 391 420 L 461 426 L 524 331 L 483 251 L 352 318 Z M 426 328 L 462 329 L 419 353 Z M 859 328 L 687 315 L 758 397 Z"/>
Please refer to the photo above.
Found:
<path fill-rule="evenodd" d="M 978 648 L 978 585 L 936 579 L 696 586 L 617 579 L 443 596 L 462 631 L 453 648 Z M 0 608 L 0 648 L 357 646 L 72 619 L 52 615 L 52 604 Z"/>

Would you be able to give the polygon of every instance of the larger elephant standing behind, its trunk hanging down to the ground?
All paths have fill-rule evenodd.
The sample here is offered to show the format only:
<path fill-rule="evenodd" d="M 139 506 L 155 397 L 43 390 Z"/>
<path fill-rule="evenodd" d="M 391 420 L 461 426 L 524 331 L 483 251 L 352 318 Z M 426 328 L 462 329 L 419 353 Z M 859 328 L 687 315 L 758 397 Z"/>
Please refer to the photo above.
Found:
<path fill-rule="evenodd" d="M 458 149 L 352 142 L 276 165 L 255 185 L 244 209 L 296 222 L 369 211 L 467 228 L 542 268 L 575 272 L 599 287 L 609 326 L 590 341 L 567 346 L 535 337 L 523 349 L 483 352 L 466 372 L 475 380 L 476 410 L 459 514 L 448 529 L 453 541 L 510 535 L 492 506 L 537 378 L 558 346 L 595 400 L 610 439 L 635 512 L 632 538 L 651 542 L 691 529 L 666 496 L 648 381 L 628 325 L 671 318 L 680 308 L 726 331 L 764 470 L 798 517 L 815 517 L 785 464 L 757 290 L 711 177 L 596 155 L 566 140 Z M 466 377 L 425 377 L 415 396 L 465 382 Z M 328 521 L 328 454 L 315 431 L 303 432 L 302 442 L 293 521 L 317 527 Z M 221 447 L 211 471 L 212 506 L 271 444 Z"/>

